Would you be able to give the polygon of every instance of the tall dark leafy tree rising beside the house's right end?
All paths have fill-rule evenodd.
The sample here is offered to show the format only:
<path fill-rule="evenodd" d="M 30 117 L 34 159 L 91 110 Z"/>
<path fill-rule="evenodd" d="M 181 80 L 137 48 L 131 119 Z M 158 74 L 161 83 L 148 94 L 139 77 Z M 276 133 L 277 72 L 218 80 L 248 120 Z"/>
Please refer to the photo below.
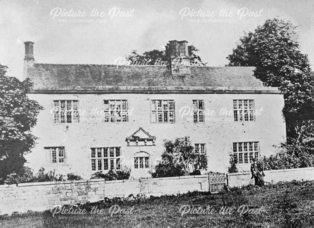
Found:
<path fill-rule="evenodd" d="M 240 38 L 227 57 L 229 66 L 254 66 L 254 75 L 266 86 L 279 87 L 284 93 L 284 116 L 288 143 L 313 137 L 314 77 L 307 55 L 299 50 L 296 26 L 274 18 Z"/>

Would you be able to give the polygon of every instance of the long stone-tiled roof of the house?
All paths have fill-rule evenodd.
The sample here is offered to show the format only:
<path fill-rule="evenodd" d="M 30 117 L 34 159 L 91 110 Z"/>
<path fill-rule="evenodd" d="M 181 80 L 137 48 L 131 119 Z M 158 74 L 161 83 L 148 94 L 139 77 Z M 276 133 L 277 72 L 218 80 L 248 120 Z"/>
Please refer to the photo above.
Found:
<path fill-rule="evenodd" d="M 173 76 L 165 66 L 34 63 L 27 77 L 34 90 L 64 86 L 263 87 L 254 67 L 191 67 L 191 76 Z"/>

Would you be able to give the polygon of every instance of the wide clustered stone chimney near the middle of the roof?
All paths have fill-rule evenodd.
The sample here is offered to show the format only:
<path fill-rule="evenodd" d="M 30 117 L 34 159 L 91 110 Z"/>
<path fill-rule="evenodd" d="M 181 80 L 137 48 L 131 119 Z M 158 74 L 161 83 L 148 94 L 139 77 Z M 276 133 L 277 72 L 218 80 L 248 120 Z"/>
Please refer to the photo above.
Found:
<path fill-rule="evenodd" d="M 165 46 L 172 75 L 191 75 L 187 43 L 187 41 L 173 40 Z"/>

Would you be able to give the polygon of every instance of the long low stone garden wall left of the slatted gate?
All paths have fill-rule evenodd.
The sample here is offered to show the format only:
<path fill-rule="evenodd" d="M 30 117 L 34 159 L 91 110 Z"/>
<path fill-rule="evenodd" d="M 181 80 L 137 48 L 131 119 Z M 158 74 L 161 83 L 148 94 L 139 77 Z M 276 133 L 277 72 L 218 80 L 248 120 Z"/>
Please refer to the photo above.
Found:
<path fill-rule="evenodd" d="M 208 191 L 208 176 L 180 176 L 121 181 L 104 179 L 0 185 L 0 214 L 43 211 L 54 205 L 96 202 L 130 194 L 160 196 Z"/>

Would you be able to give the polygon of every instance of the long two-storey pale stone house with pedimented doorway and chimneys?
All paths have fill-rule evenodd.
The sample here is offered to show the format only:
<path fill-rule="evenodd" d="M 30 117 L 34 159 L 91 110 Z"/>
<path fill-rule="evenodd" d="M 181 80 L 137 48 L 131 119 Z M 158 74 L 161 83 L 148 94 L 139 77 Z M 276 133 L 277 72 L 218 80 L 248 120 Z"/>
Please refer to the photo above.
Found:
<path fill-rule="evenodd" d="M 286 140 L 283 94 L 263 86 L 252 67 L 190 65 L 187 41 L 169 41 L 167 66 L 43 64 L 25 42 L 24 78 L 44 110 L 28 166 L 89 177 L 132 168 L 147 177 L 163 140 L 189 136 L 207 171 L 239 170 L 279 152 Z M 206 172 L 206 171 L 203 171 Z"/>

